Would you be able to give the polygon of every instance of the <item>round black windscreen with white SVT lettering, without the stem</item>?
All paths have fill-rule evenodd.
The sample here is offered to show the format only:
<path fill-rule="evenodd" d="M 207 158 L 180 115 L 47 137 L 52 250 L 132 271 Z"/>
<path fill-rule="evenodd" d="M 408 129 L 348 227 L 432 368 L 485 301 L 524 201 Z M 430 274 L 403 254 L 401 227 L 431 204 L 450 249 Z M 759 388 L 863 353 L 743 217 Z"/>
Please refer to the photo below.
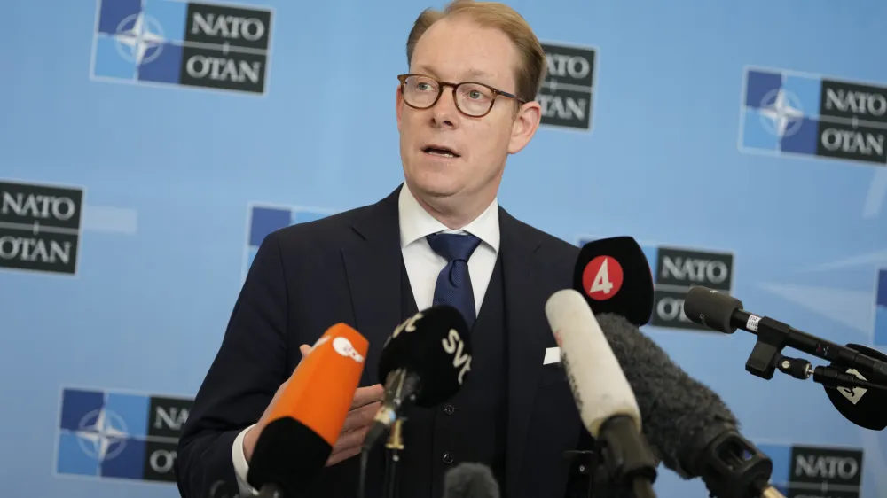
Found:
<path fill-rule="evenodd" d="M 415 404 L 431 408 L 459 391 L 471 364 L 471 338 L 455 307 L 422 310 L 391 333 L 379 358 L 379 378 L 404 369 L 420 378 Z"/>

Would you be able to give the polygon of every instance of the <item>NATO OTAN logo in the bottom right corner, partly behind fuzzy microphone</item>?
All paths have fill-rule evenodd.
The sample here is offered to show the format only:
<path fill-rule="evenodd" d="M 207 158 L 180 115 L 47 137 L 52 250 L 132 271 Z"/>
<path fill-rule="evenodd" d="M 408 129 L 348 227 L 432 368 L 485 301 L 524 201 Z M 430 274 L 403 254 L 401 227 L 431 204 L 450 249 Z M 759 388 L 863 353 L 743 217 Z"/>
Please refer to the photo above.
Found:
<path fill-rule="evenodd" d="M 770 486 L 785 496 L 860 496 L 860 449 L 779 444 L 757 448 L 773 460 Z"/>

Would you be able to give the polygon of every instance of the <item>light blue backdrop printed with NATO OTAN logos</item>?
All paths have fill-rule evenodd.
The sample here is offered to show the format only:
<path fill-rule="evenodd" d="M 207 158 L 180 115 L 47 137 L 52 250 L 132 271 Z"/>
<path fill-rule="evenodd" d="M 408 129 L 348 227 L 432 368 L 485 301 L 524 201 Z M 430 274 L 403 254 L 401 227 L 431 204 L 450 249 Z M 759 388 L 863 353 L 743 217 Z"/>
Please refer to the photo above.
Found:
<path fill-rule="evenodd" d="M 552 75 L 546 124 L 509 161 L 500 203 L 570 242 L 627 234 L 648 248 L 661 309 L 645 330 L 723 395 L 786 493 L 827 481 L 828 496 L 887 495 L 887 438 L 812 382 L 746 373 L 750 334 L 668 319 L 687 284 L 723 284 L 802 330 L 887 345 L 887 4 L 510 4 Z M 427 6 L 7 5 L 5 489 L 177 495 L 177 428 L 251 245 L 402 180 L 395 76 Z M 709 280 L 660 271 L 681 257 L 713 261 Z M 669 471 L 656 487 L 705 496 Z"/>

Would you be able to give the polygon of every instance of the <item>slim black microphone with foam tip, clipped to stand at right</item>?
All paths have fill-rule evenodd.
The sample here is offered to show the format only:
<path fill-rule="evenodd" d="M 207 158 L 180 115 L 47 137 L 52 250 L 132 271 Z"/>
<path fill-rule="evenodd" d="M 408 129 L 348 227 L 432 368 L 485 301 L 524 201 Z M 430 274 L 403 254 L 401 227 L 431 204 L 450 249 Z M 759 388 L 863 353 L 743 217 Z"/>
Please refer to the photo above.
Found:
<path fill-rule="evenodd" d="M 789 346 L 836 365 L 868 373 L 878 382 L 887 381 L 887 362 L 798 331 L 768 316 L 754 315 L 742 308 L 741 300 L 722 292 L 693 287 L 684 300 L 684 314 L 690 321 L 715 331 L 732 334 L 736 329 L 742 329 L 757 334 L 757 344 L 745 363 L 745 370 L 757 377 L 773 378 L 782 348 Z"/>

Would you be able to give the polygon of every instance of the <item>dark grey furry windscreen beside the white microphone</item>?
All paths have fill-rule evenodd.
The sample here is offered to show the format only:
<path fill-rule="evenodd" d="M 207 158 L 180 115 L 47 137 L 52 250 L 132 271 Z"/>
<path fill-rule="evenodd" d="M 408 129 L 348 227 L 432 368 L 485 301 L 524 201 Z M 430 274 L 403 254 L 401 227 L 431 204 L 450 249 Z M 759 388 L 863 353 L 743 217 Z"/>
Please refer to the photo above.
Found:
<path fill-rule="evenodd" d="M 657 456 L 672 471 L 699 476 L 693 468 L 695 454 L 704 448 L 691 447 L 691 441 L 712 428 L 738 428 L 736 417 L 717 393 L 687 375 L 623 316 L 604 313 L 597 320 L 632 386 L 642 432 Z"/>

